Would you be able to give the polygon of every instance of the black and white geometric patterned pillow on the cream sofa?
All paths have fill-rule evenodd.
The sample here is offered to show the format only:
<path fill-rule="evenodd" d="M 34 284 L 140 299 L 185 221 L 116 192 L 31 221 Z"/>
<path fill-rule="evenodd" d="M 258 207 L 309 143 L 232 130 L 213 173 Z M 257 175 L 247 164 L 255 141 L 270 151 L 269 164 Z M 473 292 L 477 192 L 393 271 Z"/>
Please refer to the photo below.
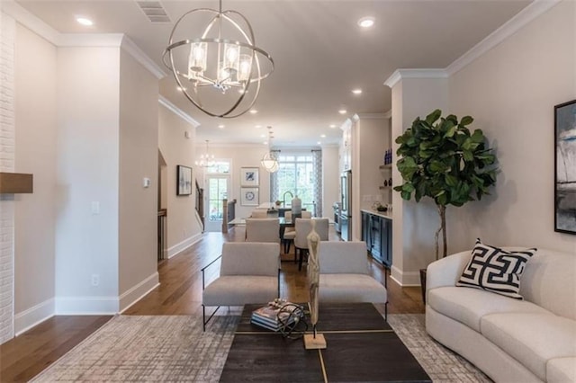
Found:
<path fill-rule="evenodd" d="M 520 276 L 535 253 L 536 249 L 510 253 L 499 247 L 483 245 L 477 238 L 472 258 L 456 286 L 485 289 L 509 298 L 522 299 L 519 294 Z"/>

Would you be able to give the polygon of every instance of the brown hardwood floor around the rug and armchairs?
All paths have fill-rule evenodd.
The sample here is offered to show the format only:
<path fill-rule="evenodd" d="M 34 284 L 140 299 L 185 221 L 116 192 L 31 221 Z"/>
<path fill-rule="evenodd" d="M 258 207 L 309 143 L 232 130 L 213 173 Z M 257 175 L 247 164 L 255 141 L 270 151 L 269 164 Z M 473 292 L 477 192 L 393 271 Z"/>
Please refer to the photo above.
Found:
<path fill-rule="evenodd" d="M 334 232 L 331 240 L 338 240 Z M 202 275 L 200 269 L 220 254 L 228 241 L 243 241 L 244 228 L 236 227 L 228 234 L 205 233 L 202 240 L 182 254 L 158 263 L 160 285 L 123 315 L 201 315 Z M 292 247 L 293 252 L 293 247 Z M 218 272 L 211 267 L 207 280 Z M 388 278 L 388 313 L 424 313 L 419 288 L 401 288 L 382 265 L 370 263 L 374 278 Z M 281 295 L 296 302 L 308 300 L 305 269 L 298 272 L 293 253 L 283 254 Z M 88 335 L 109 321 L 112 316 L 53 316 L 13 340 L 0 345 L 0 382 L 27 381 L 57 361 Z"/>

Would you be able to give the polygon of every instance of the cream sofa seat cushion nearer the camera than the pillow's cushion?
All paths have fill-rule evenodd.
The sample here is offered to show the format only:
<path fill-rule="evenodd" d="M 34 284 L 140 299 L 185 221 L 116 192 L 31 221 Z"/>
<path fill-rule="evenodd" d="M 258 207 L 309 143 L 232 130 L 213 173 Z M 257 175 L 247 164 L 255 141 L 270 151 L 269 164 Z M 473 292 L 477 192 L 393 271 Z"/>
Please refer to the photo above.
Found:
<path fill-rule="evenodd" d="M 546 363 L 576 355 L 576 321 L 562 316 L 509 313 L 483 316 L 481 332 L 539 379 Z"/>

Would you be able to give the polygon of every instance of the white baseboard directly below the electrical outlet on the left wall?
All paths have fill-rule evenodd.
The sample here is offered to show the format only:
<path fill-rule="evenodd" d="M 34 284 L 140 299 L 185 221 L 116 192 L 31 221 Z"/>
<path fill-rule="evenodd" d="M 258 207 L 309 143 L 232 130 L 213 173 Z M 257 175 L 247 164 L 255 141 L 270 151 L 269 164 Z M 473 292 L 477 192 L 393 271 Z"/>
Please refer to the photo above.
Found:
<path fill-rule="evenodd" d="M 118 314 L 118 297 L 57 297 L 57 316 L 112 316 Z"/>

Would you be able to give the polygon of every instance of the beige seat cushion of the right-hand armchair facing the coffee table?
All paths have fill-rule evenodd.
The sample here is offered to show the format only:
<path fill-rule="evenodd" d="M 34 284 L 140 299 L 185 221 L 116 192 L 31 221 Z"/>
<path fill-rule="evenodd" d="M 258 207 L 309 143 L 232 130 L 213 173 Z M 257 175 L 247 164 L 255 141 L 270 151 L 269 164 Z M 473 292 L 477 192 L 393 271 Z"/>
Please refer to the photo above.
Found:
<path fill-rule="evenodd" d="M 386 289 L 366 274 L 320 274 L 320 302 L 386 303 Z"/>

